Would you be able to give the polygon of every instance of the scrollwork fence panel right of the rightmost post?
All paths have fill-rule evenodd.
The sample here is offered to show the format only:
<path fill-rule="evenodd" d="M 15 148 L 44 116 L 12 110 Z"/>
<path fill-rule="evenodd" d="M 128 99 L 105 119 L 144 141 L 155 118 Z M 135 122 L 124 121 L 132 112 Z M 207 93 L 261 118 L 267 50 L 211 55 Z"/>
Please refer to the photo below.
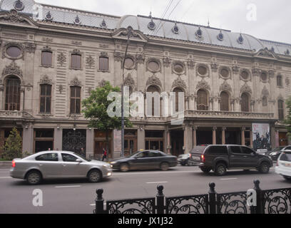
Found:
<path fill-rule="evenodd" d="M 263 191 L 265 214 L 291 214 L 291 189 Z"/>

